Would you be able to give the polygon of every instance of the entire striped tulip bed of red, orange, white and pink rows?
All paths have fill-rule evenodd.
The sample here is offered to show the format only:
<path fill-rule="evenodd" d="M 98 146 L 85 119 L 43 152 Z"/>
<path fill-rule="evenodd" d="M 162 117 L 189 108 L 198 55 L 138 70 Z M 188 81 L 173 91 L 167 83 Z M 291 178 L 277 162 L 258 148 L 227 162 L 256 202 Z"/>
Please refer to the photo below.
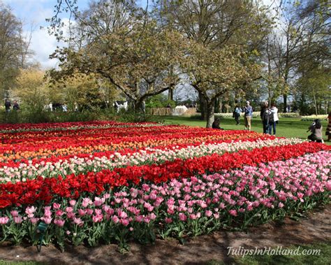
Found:
<path fill-rule="evenodd" d="M 331 148 L 253 131 L 71 122 L 0 125 L 0 238 L 149 243 L 246 229 L 330 199 Z"/>

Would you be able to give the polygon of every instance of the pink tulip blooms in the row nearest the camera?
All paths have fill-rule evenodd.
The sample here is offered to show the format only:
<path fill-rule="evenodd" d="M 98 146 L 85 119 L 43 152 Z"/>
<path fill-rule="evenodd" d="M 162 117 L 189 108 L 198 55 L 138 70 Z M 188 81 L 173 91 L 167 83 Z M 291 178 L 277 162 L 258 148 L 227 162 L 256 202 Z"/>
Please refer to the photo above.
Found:
<path fill-rule="evenodd" d="M 36 224 L 43 220 L 71 231 L 75 226 L 87 230 L 93 224 L 106 223 L 133 232 L 133 227 L 142 223 L 152 224 L 149 229 L 154 229 L 160 223 L 189 226 L 200 220 L 243 222 L 260 209 L 268 213 L 280 208 L 290 211 L 298 203 L 306 203 L 307 198 L 321 199 L 316 194 L 328 197 L 330 167 L 330 152 L 321 151 L 213 175 L 172 179 L 159 185 L 122 187 L 94 199 L 82 196 L 77 201 L 55 202 L 43 208 L 17 208 L 0 217 L 0 224 Z"/>

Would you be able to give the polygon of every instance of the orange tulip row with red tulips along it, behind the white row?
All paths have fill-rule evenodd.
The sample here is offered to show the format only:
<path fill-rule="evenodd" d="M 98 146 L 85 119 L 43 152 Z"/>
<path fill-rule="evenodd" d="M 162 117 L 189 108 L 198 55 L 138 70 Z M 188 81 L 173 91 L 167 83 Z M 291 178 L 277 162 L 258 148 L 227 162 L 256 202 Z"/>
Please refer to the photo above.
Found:
<path fill-rule="evenodd" d="M 231 141 L 245 138 L 260 138 L 261 134 L 256 132 L 246 133 L 245 131 L 216 131 L 212 129 L 194 129 L 174 132 L 155 130 L 155 134 L 142 136 L 116 136 L 108 134 L 100 138 L 90 136 L 82 141 L 80 138 L 57 137 L 50 143 L 38 143 L 21 141 L 17 144 L 0 145 L 0 163 L 5 166 L 10 162 L 22 162 L 24 159 L 40 159 L 46 157 L 57 157 L 77 154 L 93 154 L 94 152 L 120 151 L 124 149 L 138 150 L 146 147 L 155 147 L 174 144 L 202 143 L 207 141 Z M 139 135 L 139 131 L 135 134 Z M 125 135 L 125 133 L 124 133 Z M 267 138 L 268 136 L 265 136 Z M 271 137 L 271 136 L 270 136 Z"/>

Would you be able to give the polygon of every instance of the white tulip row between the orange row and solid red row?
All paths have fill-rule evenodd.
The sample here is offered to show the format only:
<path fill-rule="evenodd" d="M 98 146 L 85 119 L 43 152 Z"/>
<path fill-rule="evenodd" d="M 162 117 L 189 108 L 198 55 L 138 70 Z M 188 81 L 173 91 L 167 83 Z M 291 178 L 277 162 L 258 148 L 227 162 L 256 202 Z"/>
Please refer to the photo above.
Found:
<path fill-rule="evenodd" d="M 16 182 L 34 179 L 37 176 L 45 178 L 52 176 L 62 177 L 71 173 L 98 172 L 103 169 L 115 169 L 116 167 L 141 166 L 144 164 L 163 164 L 174 159 L 189 159 L 203 157 L 211 154 L 223 154 L 224 152 L 237 152 L 237 150 L 251 150 L 267 146 L 295 145 L 303 143 L 299 138 L 276 138 L 276 139 L 247 139 L 246 141 L 231 141 L 221 143 L 201 143 L 198 145 L 167 146 L 164 148 L 145 148 L 138 152 L 102 152 L 94 157 L 57 157 L 54 162 L 42 160 L 28 164 L 16 163 L 16 166 L 4 166 L 0 168 L 0 182 Z"/>

